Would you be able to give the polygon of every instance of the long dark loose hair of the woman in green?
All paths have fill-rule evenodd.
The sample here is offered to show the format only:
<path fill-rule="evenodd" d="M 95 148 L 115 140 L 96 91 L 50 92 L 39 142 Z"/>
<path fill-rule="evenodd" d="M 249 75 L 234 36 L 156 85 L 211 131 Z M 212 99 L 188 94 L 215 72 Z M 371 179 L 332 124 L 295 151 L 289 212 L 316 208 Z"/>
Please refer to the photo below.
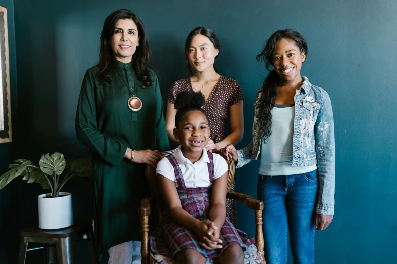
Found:
<path fill-rule="evenodd" d="M 138 29 L 139 46 L 132 56 L 132 67 L 135 70 L 136 78 L 141 82 L 139 86 L 147 88 L 152 85 L 148 71 L 148 60 L 150 57 L 150 47 L 148 35 L 146 34 L 145 25 L 142 20 L 133 12 L 127 9 L 120 9 L 110 14 L 103 24 L 103 30 L 100 34 L 100 52 L 99 52 L 99 71 L 98 78 L 102 85 L 109 85 L 111 76 L 115 67 L 111 38 L 114 34 L 117 21 L 119 19 L 131 19 Z"/>

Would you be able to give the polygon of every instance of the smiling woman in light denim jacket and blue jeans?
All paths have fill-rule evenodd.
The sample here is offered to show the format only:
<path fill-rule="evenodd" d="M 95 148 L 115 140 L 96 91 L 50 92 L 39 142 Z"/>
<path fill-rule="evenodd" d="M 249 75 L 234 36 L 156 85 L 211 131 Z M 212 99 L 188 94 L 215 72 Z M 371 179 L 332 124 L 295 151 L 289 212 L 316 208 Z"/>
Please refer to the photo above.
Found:
<path fill-rule="evenodd" d="M 287 232 L 294 263 L 314 263 L 314 232 L 334 214 L 335 146 L 331 101 L 326 91 L 301 77 L 307 43 L 298 32 L 275 32 L 257 56 L 274 70 L 258 90 L 252 142 L 221 151 L 239 168 L 261 162 L 258 199 L 268 264 L 286 263 Z"/>

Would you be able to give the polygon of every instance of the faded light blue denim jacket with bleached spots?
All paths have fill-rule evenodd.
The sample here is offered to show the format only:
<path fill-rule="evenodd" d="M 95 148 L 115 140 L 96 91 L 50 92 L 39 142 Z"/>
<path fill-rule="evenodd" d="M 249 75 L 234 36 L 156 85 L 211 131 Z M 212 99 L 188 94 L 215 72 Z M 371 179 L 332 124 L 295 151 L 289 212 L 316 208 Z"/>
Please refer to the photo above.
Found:
<path fill-rule="evenodd" d="M 294 97 L 295 120 L 293 138 L 292 166 L 310 166 L 317 164 L 319 179 L 319 197 L 316 213 L 334 215 L 335 191 L 335 140 L 334 119 L 331 101 L 322 88 L 304 81 Z M 239 168 L 251 160 L 258 159 L 262 133 L 258 124 L 260 100 L 263 88 L 258 90 L 254 103 L 255 115 L 252 127 L 252 141 L 238 150 Z"/>

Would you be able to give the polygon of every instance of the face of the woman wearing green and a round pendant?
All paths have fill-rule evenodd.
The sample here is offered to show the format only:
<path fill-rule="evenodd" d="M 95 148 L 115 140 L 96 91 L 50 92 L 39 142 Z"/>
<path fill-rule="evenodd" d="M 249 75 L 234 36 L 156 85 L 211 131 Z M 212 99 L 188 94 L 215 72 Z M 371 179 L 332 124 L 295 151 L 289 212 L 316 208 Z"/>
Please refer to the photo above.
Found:
<path fill-rule="evenodd" d="M 113 56 L 116 60 L 129 63 L 139 45 L 138 29 L 132 19 L 119 19 L 111 37 Z"/>

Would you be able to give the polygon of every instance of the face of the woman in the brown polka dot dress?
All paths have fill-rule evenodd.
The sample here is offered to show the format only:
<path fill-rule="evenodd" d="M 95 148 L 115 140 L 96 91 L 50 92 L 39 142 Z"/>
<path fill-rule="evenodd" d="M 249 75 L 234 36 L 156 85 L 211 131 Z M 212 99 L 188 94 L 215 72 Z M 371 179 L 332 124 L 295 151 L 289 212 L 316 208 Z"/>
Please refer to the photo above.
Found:
<path fill-rule="evenodd" d="M 198 34 L 192 38 L 189 45 L 188 57 L 190 65 L 198 72 L 213 67 L 219 50 L 215 49 L 208 37 Z"/>

